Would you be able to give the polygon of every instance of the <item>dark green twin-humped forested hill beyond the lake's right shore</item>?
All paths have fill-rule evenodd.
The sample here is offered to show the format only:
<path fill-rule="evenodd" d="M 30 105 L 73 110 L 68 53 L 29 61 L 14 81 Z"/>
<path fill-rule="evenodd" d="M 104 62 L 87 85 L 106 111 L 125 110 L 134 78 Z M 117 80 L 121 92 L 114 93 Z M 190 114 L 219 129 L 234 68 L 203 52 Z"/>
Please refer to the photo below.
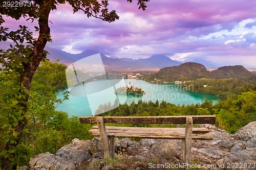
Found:
<path fill-rule="evenodd" d="M 162 68 L 155 74 L 146 75 L 144 80 L 153 81 L 154 79 L 158 79 L 174 82 L 196 80 L 200 78 L 256 81 L 256 76 L 242 65 L 223 66 L 217 70 L 209 72 L 204 65 L 195 62 L 186 62 L 179 66 Z"/>

